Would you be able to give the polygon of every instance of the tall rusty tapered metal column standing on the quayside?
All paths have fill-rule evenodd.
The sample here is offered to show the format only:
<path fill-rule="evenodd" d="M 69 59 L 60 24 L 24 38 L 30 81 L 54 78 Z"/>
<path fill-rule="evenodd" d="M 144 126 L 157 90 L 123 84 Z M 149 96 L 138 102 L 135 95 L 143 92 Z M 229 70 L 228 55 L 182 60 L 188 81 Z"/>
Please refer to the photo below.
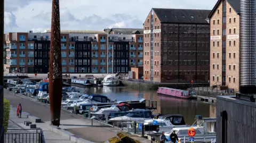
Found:
<path fill-rule="evenodd" d="M 49 100 L 52 125 L 60 125 L 62 96 L 59 0 L 52 0 L 51 48 L 49 66 Z"/>

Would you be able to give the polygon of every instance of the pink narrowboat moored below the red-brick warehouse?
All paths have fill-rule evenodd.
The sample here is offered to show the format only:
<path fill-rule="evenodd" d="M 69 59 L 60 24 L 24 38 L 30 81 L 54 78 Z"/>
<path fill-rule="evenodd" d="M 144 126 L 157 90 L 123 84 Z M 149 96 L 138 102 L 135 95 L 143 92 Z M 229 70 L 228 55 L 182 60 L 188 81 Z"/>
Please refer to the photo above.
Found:
<path fill-rule="evenodd" d="M 174 88 L 158 87 L 157 93 L 162 95 L 177 97 L 177 98 L 183 98 L 183 99 L 191 98 L 189 91 L 174 89 Z"/>

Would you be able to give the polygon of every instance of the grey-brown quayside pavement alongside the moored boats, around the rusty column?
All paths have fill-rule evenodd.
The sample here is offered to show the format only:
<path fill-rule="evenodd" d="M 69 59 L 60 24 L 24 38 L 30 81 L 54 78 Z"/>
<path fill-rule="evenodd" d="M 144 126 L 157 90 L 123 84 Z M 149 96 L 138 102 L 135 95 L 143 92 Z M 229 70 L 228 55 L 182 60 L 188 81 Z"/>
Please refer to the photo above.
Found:
<path fill-rule="evenodd" d="M 22 110 L 36 117 L 39 117 L 43 123 L 36 123 L 38 128 L 45 130 L 50 130 L 50 106 L 44 103 L 37 102 L 35 99 L 28 97 L 16 95 L 12 92 L 4 90 L 4 98 L 10 101 L 13 106 L 18 106 L 20 103 L 22 105 Z M 91 142 L 102 142 L 109 138 L 115 137 L 116 133 L 120 130 L 116 128 L 111 128 L 99 122 L 93 122 L 91 125 L 91 120 L 84 119 L 81 115 L 76 115 L 68 111 L 61 110 L 60 118 L 60 128 L 64 129 L 70 133 L 75 134 L 79 138 Z M 18 123 L 18 124 L 23 124 Z M 147 140 L 149 141 L 149 140 Z M 143 141 L 144 142 L 144 141 Z"/>

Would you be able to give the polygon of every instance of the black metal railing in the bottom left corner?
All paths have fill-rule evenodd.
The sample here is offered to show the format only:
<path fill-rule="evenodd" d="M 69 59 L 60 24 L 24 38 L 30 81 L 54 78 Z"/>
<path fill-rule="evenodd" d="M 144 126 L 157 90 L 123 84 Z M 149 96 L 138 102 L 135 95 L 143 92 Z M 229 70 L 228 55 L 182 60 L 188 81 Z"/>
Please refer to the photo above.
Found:
<path fill-rule="evenodd" d="M 9 129 L 4 134 L 3 143 L 45 143 L 43 130 L 37 129 Z"/>

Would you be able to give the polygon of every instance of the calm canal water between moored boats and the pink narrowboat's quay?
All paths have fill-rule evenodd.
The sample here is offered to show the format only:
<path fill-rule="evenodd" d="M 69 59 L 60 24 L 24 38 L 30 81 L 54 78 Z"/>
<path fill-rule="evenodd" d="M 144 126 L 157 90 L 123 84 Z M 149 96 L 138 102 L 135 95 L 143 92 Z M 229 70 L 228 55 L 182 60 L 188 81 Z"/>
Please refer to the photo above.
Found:
<path fill-rule="evenodd" d="M 216 117 L 215 104 L 200 102 L 197 100 L 178 99 L 158 95 L 156 91 L 139 91 L 127 87 L 97 87 L 97 88 L 79 88 L 85 94 L 102 94 L 110 99 L 117 101 L 138 100 L 145 98 L 146 100 L 157 101 L 157 110 L 154 113 L 165 114 L 182 114 L 187 124 L 195 122 L 195 116 Z"/>

